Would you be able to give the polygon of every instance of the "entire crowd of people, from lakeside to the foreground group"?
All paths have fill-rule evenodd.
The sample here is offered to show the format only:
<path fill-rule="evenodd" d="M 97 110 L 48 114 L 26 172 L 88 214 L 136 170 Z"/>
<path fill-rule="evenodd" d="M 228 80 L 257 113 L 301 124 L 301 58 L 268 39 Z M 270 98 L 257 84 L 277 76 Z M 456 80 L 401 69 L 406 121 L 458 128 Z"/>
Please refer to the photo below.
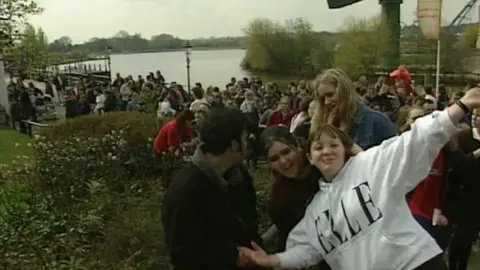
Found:
<path fill-rule="evenodd" d="M 13 103 L 34 108 L 41 91 L 22 86 L 11 83 Z M 59 101 L 71 118 L 141 110 L 150 92 L 157 116 L 172 118 L 154 151 L 194 153 L 162 206 L 175 269 L 466 270 L 480 229 L 475 87 L 415 85 L 401 66 L 374 83 L 329 69 L 286 88 L 231 78 L 187 91 L 157 71 L 81 81 Z M 250 175 L 259 160 L 273 179 L 266 232 Z"/>

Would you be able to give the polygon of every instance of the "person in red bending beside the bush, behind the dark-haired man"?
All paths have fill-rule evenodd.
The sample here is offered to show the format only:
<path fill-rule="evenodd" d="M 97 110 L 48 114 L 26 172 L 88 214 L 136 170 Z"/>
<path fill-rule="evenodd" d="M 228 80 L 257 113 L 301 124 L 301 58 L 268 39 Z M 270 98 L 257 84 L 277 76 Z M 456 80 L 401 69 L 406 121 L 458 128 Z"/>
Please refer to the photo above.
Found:
<path fill-rule="evenodd" d="M 174 120 L 169 121 L 158 132 L 153 142 L 153 150 L 163 153 L 188 146 L 192 140 L 191 122 L 194 115 L 191 111 L 182 111 Z"/>

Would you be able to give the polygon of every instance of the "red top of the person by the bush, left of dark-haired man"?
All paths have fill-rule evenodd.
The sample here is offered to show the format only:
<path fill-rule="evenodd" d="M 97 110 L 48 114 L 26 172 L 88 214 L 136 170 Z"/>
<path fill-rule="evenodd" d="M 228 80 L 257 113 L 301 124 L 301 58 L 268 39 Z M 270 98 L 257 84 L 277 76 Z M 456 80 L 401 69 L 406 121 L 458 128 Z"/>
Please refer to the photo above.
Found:
<path fill-rule="evenodd" d="M 187 141 L 192 138 L 192 131 L 190 128 L 185 128 L 185 137 Z M 179 148 L 182 144 L 180 140 L 180 133 L 177 129 L 177 120 L 171 120 L 163 125 L 153 141 L 153 150 L 156 153 L 166 152 L 168 148 Z"/>

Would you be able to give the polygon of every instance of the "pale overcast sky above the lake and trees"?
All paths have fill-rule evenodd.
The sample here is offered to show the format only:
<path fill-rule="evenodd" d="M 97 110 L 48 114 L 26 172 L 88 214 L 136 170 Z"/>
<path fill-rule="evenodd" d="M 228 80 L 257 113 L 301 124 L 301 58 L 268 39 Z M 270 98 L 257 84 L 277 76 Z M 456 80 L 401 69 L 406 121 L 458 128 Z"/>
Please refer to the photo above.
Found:
<path fill-rule="evenodd" d="M 168 33 L 191 39 L 242 35 L 252 18 L 283 21 L 308 19 L 317 31 L 335 31 L 349 16 L 380 11 L 378 0 L 364 0 L 341 10 L 329 10 L 326 0 L 37 0 L 45 11 L 30 19 L 51 41 L 70 36 L 74 42 L 110 37 L 119 30 L 144 37 Z M 443 20 L 451 21 L 468 0 L 444 0 Z M 414 18 L 416 0 L 404 0 L 402 21 Z M 477 11 L 473 13 L 476 21 Z"/>

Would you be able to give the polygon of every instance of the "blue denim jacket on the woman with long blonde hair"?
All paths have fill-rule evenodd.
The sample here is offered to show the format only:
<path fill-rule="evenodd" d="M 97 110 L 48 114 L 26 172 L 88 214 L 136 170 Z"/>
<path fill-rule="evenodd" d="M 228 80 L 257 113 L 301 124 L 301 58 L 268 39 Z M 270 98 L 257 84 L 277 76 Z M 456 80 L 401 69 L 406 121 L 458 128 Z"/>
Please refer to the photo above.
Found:
<path fill-rule="evenodd" d="M 356 144 L 366 150 L 396 134 L 395 126 L 387 116 L 361 104 L 350 127 L 349 135 Z"/>

